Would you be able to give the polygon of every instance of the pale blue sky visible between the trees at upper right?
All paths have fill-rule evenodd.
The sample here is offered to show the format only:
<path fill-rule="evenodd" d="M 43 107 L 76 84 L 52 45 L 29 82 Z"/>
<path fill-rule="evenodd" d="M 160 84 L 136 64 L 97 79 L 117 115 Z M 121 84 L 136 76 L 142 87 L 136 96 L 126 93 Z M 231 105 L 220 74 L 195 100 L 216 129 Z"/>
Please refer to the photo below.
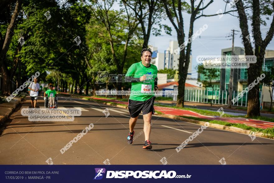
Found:
<path fill-rule="evenodd" d="M 205 1 L 208 2 L 208 0 Z M 207 7 L 206 11 L 204 11 L 204 14 L 215 14 L 219 9 L 222 9 L 224 12 L 225 3 L 221 0 L 214 1 L 209 7 Z M 229 7 L 227 6 L 229 9 Z M 234 15 L 237 15 L 237 12 L 234 12 Z M 189 30 L 189 20 L 190 15 L 187 13 L 183 13 L 184 18 L 184 32 L 186 35 L 188 35 Z M 265 17 L 263 17 L 265 19 Z M 272 18 L 270 17 L 270 20 L 266 20 L 267 26 L 261 26 L 262 30 L 262 38 L 264 39 L 266 36 L 266 33 L 268 29 L 270 28 L 270 24 L 272 22 Z M 176 40 L 177 41 L 177 34 L 175 29 L 173 28 L 171 22 L 167 20 L 162 21 L 163 24 L 167 24 L 172 28 L 172 36 L 153 36 L 151 35 L 149 38 L 149 45 L 158 47 L 158 51 L 163 53 L 164 50 L 166 50 L 169 46 L 169 41 Z M 229 14 L 224 14 L 223 17 L 219 18 L 219 16 L 214 17 L 201 17 L 197 19 L 194 22 L 194 32 L 199 30 L 200 27 L 202 27 L 204 24 L 208 25 L 208 28 L 201 33 L 201 39 L 196 38 L 194 41 L 192 41 L 192 76 L 196 78 L 197 73 L 195 71 L 195 66 L 197 65 L 196 57 L 197 55 L 220 55 L 221 49 L 229 48 L 232 46 L 232 40 L 231 37 L 225 37 L 229 33 L 231 33 L 232 29 L 240 31 L 239 28 L 239 20 L 237 17 L 234 17 Z M 268 28 L 268 29 L 266 29 Z M 249 22 L 248 30 L 249 33 L 252 33 L 251 31 L 252 27 Z M 236 32 L 237 35 L 235 35 L 234 40 L 234 46 L 243 47 L 242 44 L 242 38 L 241 32 Z M 162 32 L 162 35 L 166 35 L 164 31 Z M 221 37 L 213 37 L 213 36 L 221 36 Z M 203 38 L 204 37 L 204 38 Z M 185 39 L 186 41 L 186 39 Z M 268 50 L 274 50 L 274 41 L 270 42 L 270 44 L 267 46 Z"/>

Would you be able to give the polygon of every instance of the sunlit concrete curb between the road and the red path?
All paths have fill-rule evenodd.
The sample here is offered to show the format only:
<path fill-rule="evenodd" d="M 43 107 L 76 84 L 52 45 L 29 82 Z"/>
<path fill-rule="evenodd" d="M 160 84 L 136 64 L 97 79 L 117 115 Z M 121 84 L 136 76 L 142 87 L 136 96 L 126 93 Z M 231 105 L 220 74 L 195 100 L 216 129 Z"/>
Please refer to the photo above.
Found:
<path fill-rule="evenodd" d="M 88 99 L 85 99 L 85 100 L 88 100 Z M 118 107 L 118 108 L 125 108 L 125 109 L 128 108 L 127 106 L 122 106 L 122 105 L 119 105 L 119 104 L 111 104 L 109 102 L 101 102 L 101 101 L 98 101 L 98 102 L 102 103 L 102 104 L 105 104 L 105 105 L 115 106 L 115 107 Z M 175 116 L 175 115 L 158 114 L 158 113 L 155 113 L 155 114 L 157 114 L 158 116 L 161 116 L 161 117 L 165 117 L 165 118 L 178 119 L 178 120 L 181 120 L 181 121 L 187 121 L 187 122 L 190 122 L 190 123 L 196 123 L 196 124 L 200 124 L 200 125 L 205 125 L 205 123 L 206 123 L 205 121 L 198 121 L 198 120 L 183 118 L 183 117 Z M 267 136 L 267 134 L 264 134 L 262 132 L 253 132 L 251 130 L 244 130 L 242 128 L 237 128 L 237 127 L 229 127 L 229 126 L 215 124 L 215 123 L 209 123 L 209 127 L 217 128 L 217 129 L 223 129 L 223 130 L 227 130 L 227 131 L 231 131 L 231 132 L 244 133 L 244 134 L 247 134 L 247 135 L 253 134 L 257 137 L 269 138 Z M 270 139 L 274 139 L 274 137 L 270 138 Z"/>

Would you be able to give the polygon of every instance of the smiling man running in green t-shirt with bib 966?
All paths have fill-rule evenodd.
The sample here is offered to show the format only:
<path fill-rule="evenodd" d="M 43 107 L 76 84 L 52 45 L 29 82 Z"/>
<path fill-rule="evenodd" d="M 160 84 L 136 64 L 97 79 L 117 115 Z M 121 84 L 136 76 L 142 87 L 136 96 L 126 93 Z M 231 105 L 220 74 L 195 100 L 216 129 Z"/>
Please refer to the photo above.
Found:
<path fill-rule="evenodd" d="M 145 142 L 143 149 L 152 149 L 152 144 L 149 141 L 151 132 L 151 117 L 154 114 L 154 94 L 153 90 L 158 90 L 157 87 L 157 67 L 150 64 L 151 49 L 144 48 L 141 51 L 141 60 L 138 63 L 132 64 L 125 75 L 125 81 L 131 82 L 131 92 L 129 98 L 130 112 L 130 132 L 127 140 L 131 144 L 133 142 L 134 127 L 138 119 L 139 113 L 143 112 L 144 118 L 144 136 Z"/>

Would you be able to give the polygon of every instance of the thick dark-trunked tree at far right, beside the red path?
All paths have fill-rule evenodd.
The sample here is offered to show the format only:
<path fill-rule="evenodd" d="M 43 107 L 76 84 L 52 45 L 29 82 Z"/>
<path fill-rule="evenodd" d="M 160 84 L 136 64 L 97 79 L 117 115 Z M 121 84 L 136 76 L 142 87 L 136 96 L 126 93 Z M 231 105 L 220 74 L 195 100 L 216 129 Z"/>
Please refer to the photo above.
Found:
<path fill-rule="evenodd" d="M 261 75 L 262 64 L 265 55 L 265 49 L 274 35 L 274 1 L 273 0 L 235 0 L 237 11 L 239 14 L 240 29 L 242 31 L 243 46 L 245 49 L 245 55 L 255 55 L 257 62 L 250 64 L 248 68 L 248 85 L 251 84 L 257 77 Z M 251 4 L 252 15 L 250 12 L 245 11 L 245 4 Z M 266 25 L 262 20 L 262 16 L 271 16 L 272 22 L 270 29 L 267 32 L 265 39 L 262 39 L 261 25 Z M 250 41 L 251 35 L 248 31 L 248 20 L 251 21 L 252 34 L 254 38 L 255 51 L 253 51 L 252 41 Z M 248 111 L 247 116 L 259 116 L 260 115 L 260 103 L 259 103 L 259 84 L 255 85 L 248 92 Z"/>

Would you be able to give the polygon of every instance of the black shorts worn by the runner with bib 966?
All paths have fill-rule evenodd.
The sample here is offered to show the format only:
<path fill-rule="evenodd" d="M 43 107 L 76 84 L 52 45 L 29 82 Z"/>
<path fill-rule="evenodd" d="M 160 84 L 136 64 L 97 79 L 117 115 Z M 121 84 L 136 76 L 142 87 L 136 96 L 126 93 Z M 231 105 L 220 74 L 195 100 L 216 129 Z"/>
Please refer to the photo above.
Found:
<path fill-rule="evenodd" d="M 136 118 L 141 111 L 143 114 L 148 114 L 152 112 L 153 114 L 155 113 L 154 111 L 154 100 L 156 97 L 151 97 L 148 100 L 145 101 L 137 101 L 137 100 L 130 100 L 129 99 L 129 112 L 130 112 L 130 117 L 131 118 Z"/>

